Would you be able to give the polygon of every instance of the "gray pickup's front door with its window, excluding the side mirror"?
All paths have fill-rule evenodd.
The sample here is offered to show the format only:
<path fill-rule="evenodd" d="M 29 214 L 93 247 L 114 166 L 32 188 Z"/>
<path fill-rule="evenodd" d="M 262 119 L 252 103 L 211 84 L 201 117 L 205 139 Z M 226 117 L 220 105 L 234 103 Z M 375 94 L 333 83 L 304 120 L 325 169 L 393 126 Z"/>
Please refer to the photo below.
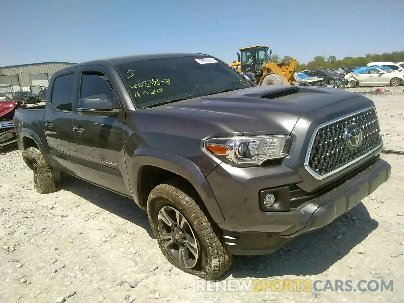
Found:
<path fill-rule="evenodd" d="M 73 121 L 74 137 L 84 179 L 131 196 L 124 153 L 125 110 L 113 86 L 102 69 L 81 71 L 79 99 L 105 94 L 122 111 L 116 117 L 77 114 Z"/>

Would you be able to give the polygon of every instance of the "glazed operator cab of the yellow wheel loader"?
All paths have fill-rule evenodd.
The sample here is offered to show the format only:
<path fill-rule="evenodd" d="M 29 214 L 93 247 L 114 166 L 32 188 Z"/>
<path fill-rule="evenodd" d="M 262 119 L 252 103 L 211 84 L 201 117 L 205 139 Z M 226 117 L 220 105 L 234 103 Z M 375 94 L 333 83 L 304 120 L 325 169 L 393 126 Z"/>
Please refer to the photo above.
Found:
<path fill-rule="evenodd" d="M 241 72 L 257 76 L 262 74 L 262 65 L 269 61 L 268 46 L 252 46 L 240 49 Z M 272 50 L 270 50 L 270 55 Z"/>

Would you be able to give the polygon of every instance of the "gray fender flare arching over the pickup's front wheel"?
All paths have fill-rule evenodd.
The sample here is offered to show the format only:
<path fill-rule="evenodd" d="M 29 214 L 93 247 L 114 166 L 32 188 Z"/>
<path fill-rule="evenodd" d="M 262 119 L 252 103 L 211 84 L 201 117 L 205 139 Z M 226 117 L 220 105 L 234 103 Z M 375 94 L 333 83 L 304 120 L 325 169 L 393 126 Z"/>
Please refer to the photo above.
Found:
<path fill-rule="evenodd" d="M 191 160 L 179 154 L 174 154 L 161 149 L 139 147 L 133 154 L 132 171 L 129 178 L 130 186 L 133 191 L 133 198 L 139 206 L 140 200 L 142 199 L 139 194 L 141 186 L 139 178 L 142 173 L 142 168 L 145 165 L 156 166 L 187 179 L 198 192 L 210 217 L 215 223 L 224 222 L 223 213 L 216 201 L 213 191 L 198 166 L 196 166 Z"/>

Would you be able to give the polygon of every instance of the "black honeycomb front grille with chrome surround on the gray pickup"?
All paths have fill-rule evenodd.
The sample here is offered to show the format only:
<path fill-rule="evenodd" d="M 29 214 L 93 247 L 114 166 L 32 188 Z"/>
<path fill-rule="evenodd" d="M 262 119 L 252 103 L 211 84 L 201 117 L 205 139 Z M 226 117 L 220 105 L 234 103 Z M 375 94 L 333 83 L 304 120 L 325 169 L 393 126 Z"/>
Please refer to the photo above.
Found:
<path fill-rule="evenodd" d="M 352 133 L 352 130 L 363 132 L 362 143 L 356 148 L 347 137 L 347 134 L 358 133 Z M 364 109 L 318 126 L 307 153 L 305 167 L 316 179 L 323 179 L 360 160 L 380 147 L 381 143 L 376 110 L 374 107 Z"/>

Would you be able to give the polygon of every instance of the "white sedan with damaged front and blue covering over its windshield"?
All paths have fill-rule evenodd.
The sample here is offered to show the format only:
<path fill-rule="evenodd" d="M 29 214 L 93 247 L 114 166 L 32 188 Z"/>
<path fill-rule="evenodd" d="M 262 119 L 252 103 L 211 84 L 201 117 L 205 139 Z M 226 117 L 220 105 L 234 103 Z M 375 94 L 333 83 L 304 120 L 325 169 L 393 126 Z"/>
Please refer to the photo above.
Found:
<path fill-rule="evenodd" d="M 400 86 L 404 85 L 404 73 L 395 72 L 388 67 L 362 67 L 347 74 L 348 87 L 355 86 Z"/>

